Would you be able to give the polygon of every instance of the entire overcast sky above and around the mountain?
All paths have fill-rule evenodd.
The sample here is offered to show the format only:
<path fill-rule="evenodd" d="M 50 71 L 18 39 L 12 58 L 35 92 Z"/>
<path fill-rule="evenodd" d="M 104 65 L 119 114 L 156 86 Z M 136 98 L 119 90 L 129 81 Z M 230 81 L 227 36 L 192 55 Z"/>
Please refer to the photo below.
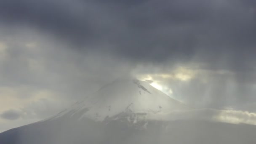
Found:
<path fill-rule="evenodd" d="M 0 131 L 122 75 L 195 108 L 256 112 L 255 0 L 0 0 Z"/>

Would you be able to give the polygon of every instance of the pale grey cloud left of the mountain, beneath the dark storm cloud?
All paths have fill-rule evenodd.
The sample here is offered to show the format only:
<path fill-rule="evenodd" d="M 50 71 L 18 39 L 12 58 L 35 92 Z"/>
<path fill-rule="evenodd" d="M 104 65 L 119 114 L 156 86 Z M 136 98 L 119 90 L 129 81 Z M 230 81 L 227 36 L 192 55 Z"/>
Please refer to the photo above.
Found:
<path fill-rule="evenodd" d="M 108 54 L 78 53 L 67 45 L 45 40 L 43 35 L 21 31 L 2 41 L 8 48 L 6 58 L 0 61 L 0 88 L 11 89 L 10 97 L 20 101 L 1 108 L 22 107 L 19 121 L 25 122 L 20 125 L 56 114 L 130 70 L 129 63 Z M 34 42 L 35 48 L 27 48 L 26 43 Z M 8 101 L 8 94 L 1 93 L 0 98 Z M 1 117 L 19 118 L 8 114 Z M 8 123 L 6 128 L 12 125 Z"/>

